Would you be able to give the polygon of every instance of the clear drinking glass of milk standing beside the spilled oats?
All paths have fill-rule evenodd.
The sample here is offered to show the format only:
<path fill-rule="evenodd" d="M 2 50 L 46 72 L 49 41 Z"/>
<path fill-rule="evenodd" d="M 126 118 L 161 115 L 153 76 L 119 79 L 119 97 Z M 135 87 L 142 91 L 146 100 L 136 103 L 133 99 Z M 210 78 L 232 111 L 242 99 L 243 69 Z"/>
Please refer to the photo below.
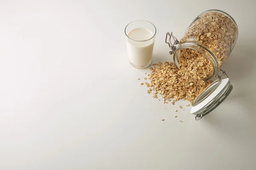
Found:
<path fill-rule="evenodd" d="M 125 27 L 128 57 L 135 68 L 150 65 L 156 33 L 156 27 L 145 20 L 133 21 Z"/>

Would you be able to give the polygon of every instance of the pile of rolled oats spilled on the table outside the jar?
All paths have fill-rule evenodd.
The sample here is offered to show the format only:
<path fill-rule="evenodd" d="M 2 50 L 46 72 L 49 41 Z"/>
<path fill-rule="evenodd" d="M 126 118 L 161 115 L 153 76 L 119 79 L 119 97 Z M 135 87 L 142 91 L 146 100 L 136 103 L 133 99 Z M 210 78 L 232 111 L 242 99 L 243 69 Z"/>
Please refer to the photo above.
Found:
<path fill-rule="evenodd" d="M 186 69 L 179 71 L 172 62 L 154 64 L 154 68 L 150 68 L 151 74 L 148 75 L 148 86 L 153 87 L 164 100 L 175 98 L 176 101 L 186 99 L 192 102 L 209 82 L 202 80 L 204 74 Z"/>

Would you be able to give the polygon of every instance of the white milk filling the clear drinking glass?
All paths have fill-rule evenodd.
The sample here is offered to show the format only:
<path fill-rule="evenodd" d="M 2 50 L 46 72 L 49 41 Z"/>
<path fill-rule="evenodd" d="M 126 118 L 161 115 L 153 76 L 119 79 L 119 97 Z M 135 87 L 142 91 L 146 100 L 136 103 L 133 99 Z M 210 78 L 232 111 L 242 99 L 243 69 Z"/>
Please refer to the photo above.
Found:
<path fill-rule="evenodd" d="M 136 66 L 147 66 L 151 62 L 154 48 L 154 34 L 145 28 L 136 28 L 128 32 L 127 51 L 131 64 Z M 137 41 L 134 41 L 137 40 Z M 144 41 L 148 40 L 148 41 Z"/>

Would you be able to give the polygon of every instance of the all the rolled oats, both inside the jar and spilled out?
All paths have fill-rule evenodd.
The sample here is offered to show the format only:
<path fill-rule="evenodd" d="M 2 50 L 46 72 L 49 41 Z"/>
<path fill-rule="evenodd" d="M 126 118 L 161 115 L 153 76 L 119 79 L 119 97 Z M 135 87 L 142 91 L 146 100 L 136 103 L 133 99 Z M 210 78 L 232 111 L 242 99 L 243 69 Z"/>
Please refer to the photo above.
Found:
<path fill-rule="evenodd" d="M 180 42 L 194 41 L 208 48 L 215 55 L 221 66 L 229 56 L 230 46 L 237 39 L 237 27 L 227 16 L 219 12 L 201 14 L 188 28 Z M 165 62 L 153 64 L 148 74 L 153 87 L 154 98 L 157 93 L 163 96 L 164 102 L 174 98 L 192 102 L 209 84 L 204 81 L 212 75 L 213 67 L 209 59 L 192 49 L 181 49 L 178 70 L 174 63 Z"/>

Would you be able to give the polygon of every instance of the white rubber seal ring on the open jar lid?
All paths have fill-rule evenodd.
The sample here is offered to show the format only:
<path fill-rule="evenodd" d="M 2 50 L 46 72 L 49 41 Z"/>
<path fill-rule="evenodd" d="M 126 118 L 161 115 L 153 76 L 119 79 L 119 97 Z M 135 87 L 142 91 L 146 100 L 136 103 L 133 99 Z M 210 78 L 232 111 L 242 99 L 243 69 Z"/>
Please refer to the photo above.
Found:
<path fill-rule="evenodd" d="M 190 113 L 195 113 L 199 111 L 201 108 L 205 108 L 206 105 L 209 104 L 215 97 L 221 92 L 221 90 L 227 85 L 228 78 L 221 79 L 221 84 L 210 94 L 206 99 L 200 102 L 198 105 L 191 106 Z M 210 87 L 210 86 L 208 86 Z M 198 113 L 197 113 L 198 114 Z"/>

